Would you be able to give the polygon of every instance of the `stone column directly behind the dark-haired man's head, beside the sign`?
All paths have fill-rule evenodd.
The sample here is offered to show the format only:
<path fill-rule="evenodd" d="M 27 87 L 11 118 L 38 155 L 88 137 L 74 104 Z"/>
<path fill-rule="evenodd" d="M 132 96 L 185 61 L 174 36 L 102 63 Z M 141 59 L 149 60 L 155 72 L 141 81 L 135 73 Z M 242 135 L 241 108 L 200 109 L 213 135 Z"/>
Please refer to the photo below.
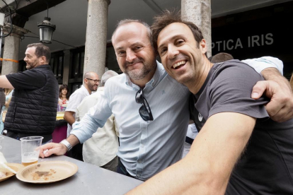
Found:
<path fill-rule="evenodd" d="M 207 42 L 207 57 L 212 55 L 211 0 L 181 0 L 181 18 L 195 23 Z"/>

